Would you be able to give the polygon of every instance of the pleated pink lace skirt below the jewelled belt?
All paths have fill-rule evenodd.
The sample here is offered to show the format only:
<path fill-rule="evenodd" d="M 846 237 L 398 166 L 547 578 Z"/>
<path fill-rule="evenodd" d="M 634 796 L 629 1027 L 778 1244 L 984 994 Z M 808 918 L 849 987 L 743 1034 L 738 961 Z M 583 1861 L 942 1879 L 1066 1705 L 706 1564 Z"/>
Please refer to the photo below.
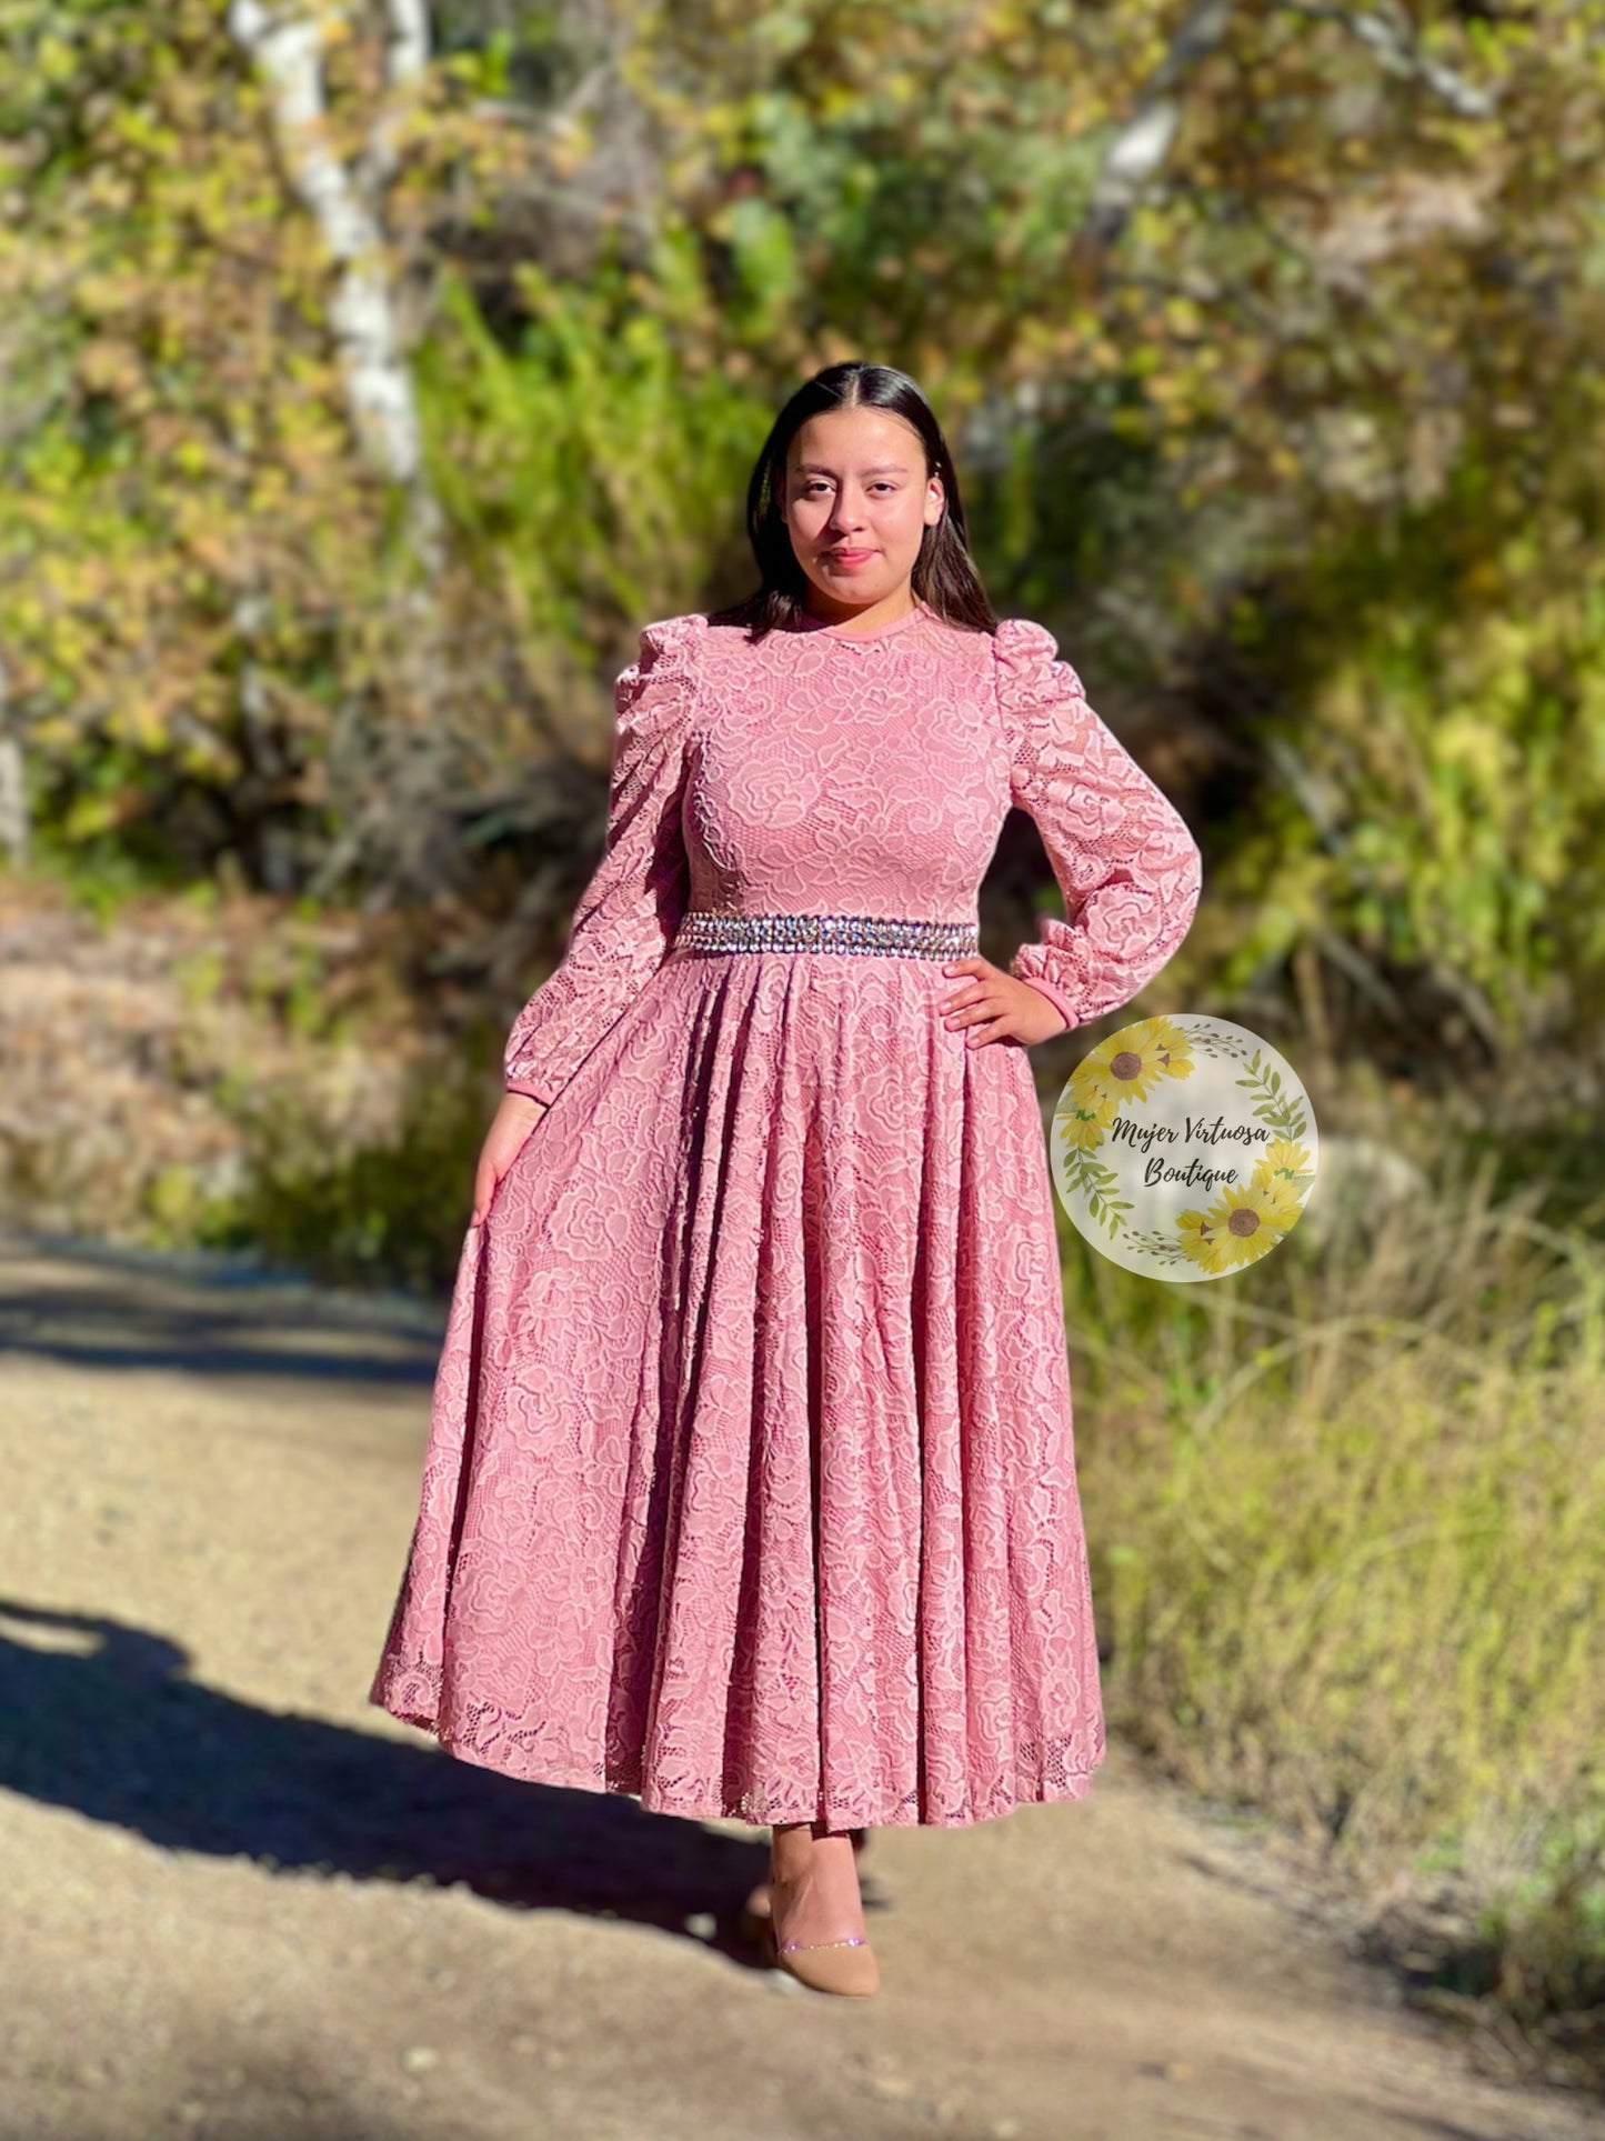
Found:
<path fill-rule="evenodd" d="M 942 959 L 674 951 L 471 1227 L 370 1700 L 753 1824 L 1104 1756 L 1029 1058 Z"/>

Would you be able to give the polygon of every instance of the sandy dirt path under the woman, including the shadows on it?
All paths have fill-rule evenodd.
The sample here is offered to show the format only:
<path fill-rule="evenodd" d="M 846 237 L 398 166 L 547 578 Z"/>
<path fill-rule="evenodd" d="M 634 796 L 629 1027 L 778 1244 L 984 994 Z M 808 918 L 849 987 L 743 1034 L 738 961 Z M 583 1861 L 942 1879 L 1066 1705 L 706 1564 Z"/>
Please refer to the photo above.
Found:
<path fill-rule="evenodd" d="M 762 1833 L 383 1717 L 437 1327 L 0 1242 L 0 2141 L 1590 2132 L 1119 1749 L 1081 1805 L 877 1831 L 858 2004 L 725 1935 Z"/>

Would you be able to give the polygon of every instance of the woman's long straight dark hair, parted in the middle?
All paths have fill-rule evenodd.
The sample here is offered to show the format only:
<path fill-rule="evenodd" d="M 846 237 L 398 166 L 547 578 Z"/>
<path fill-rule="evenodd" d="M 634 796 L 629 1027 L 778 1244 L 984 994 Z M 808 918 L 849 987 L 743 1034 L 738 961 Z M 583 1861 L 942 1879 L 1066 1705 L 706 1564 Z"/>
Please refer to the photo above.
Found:
<path fill-rule="evenodd" d="M 708 621 L 747 625 L 751 638 L 762 638 L 777 625 L 794 625 L 805 614 L 809 580 L 792 550 L 792 533 L 783 512 L 785 456 L 807 420 L 826 409 L 886 409 L 890 415 L 901 415 L 918 432 L 927 480 L 942 477 L 944 507 L 942 518 L 935 527 L 927 527 L 920 540 L 910 587 L 918 602 L 929 604 L 950 625 L 995 632 L 997 617 L 965 542 L 959 471 L 952 467 L 952 454 L 931 403 L 907 373 L 899 373 L 890 364 L 862 364 L 858 360 L 828 364 L 815 373 L 775 417 L 747 484 L 747 540 L 758 559 L 762 584 Z"/>

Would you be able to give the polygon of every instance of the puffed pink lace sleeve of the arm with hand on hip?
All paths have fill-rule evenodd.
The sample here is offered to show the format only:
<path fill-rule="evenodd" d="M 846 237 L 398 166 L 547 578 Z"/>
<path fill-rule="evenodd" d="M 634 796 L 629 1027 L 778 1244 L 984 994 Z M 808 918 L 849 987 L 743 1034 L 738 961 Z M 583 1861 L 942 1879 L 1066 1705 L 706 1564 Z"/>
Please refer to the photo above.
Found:
<path fill-rule="evenodd" d="M 1036 822 L 1066 921 L 1042 916 L 1010 974 L 1066 1026 L 1128 1004 L 1177 951 L 1203 859 L 1181 811 L 1091 711 L 1053 634 L 1023 617 L 995 634 L 1010 794 Z"/>

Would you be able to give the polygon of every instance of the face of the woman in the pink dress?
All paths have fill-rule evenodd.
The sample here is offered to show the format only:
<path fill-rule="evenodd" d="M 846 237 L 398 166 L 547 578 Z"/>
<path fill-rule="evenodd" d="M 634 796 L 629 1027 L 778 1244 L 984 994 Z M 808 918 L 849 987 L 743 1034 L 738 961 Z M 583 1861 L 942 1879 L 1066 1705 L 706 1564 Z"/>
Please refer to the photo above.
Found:
<path fill-rule="evenodd" d="M 785 525 L 822 608 L 862 610 L 905 589 L 942 507 L 920 435 L 888 409 L 830 409 L 792 439 Z"/>

